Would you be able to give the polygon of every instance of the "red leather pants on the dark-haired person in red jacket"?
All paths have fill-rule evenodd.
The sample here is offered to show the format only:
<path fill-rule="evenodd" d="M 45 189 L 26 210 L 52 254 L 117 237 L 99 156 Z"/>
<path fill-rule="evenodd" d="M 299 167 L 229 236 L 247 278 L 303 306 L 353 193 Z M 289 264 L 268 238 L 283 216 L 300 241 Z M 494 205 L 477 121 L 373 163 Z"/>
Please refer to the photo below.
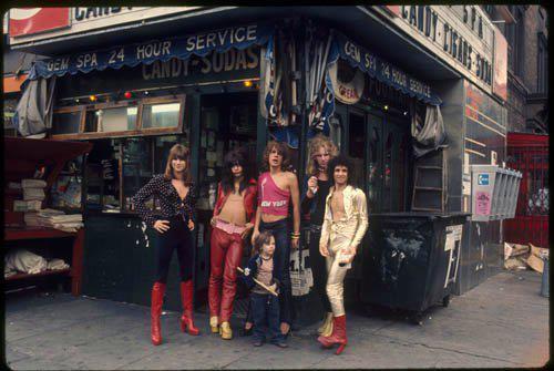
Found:
<path fill-rule="evenodd" d="M 239 234 L 229 235 L 219 228 L 213 228 L 209 246 L 209 317 L 218 317 L 219 323 L 228 322 L 237 290 L 237 267 L 243 256 L 243 238 Z"/>

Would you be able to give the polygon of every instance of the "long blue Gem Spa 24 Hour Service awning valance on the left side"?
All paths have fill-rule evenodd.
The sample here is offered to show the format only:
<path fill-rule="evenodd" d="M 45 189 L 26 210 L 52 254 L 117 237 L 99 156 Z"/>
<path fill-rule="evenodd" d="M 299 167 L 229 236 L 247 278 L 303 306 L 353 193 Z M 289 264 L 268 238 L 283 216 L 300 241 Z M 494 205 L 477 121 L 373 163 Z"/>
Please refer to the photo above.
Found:
<path fill-rule="evenodd" d="M 103 71 L 107 68 L 133 68 L 173 58 L 185 60 L 193 54 L 205 56 L 213 51 L 226 52 L 230 48 L 244 50 L 253 44 L 265 44 L 273 33 L 273 23 L 254 23 L 58 56 L 34 62 L 29 80 Z"/>

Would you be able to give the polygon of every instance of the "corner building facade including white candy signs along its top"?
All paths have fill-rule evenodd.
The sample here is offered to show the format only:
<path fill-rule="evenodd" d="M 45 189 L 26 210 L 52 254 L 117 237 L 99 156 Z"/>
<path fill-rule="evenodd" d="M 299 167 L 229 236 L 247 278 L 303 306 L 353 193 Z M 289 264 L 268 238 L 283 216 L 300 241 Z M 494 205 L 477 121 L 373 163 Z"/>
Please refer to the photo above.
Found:
<path fill-rule="evenodd" d="M 61 181 L 60 188 L 75 192 L 52 197 L 85 214 L 83 293 L 148 302 L 156 236 L 142 226 L 131 197 L 163 169 L 175 142 L 191 147 L 201 188 L 201 302 L 211 189 L 230 148 L 246 146 L 259 161 L 269 138 L 286 142 L 301 179 L 307 140 L 322 132 L 356 162 L 376 218 L 471 214 L 471 165 L 505 161 L 507 49 L 480 7 L 64 9 L 49 17 L 54 24 L 29 34 L 14 22 L 10 43 L 49 56 L 29 76 L 55 80 L 49 136 L 94 143 L 75 164 L 81 177 Z M 442 118 L 427 118 L 432 115 Z M 412 146 L 425 122 L 443 125 L 447 137 L 422 157 L 427 164 Z M 418 177 L 418 169 L 427 175 Z M 463 293 L 486 279 L 502 234 L 500 220 L 458 227 L 462 240 L 443 274 L 452 276 L 445 285 Z M 398 259 L 412 254 L 398 246 L 408 250 L 376 257 L 370 240 L 347 276 L 351 302 L 363 295 L 365 259 L 384 259 L 382 271 L 397 275 Z"/>

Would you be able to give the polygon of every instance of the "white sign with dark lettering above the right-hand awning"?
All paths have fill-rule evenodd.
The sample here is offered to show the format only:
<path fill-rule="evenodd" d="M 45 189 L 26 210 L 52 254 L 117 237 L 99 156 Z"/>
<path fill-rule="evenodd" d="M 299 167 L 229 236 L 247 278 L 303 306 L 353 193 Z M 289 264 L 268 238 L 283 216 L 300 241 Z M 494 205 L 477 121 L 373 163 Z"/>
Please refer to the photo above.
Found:
<path fill-rule="evenodd" d="M 389 8 L 381 12 L 466 79 L 492 93 L 495 28 L 479 6 L 400 6 L 399 11 L 399 16 Z"/>

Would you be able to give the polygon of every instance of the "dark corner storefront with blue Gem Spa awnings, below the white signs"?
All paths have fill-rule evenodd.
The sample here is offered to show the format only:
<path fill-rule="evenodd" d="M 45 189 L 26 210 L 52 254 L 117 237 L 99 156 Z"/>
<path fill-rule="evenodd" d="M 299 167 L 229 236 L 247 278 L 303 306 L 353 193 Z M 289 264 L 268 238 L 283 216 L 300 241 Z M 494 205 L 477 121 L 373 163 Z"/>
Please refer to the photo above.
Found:
<path fill-rule="evenodd" d="M 229 11 L 233 17 L 227 19 L 222 10 L 211 23 L 208 17 L 216 12 L 198 13 L 192 17 L 195 30 L 186 33 L 163 33 L 164 22 L 158 21 L 155 40 L 103 40 L 103 48 L 52 52 L 55 56 L 34 65 L 31 80 L 55 80 L 51 137 L 94 144 L 84 163 L 75 164 L 82 176 L 60 178 L 60 188 L 74 194 L 53 196 L 53 206 L 85 213 L 83 293 L 148 305 L 156 238 L 133 213 L 130 199 L 153 174 L 163 172 L 174 143 L 191 147 L 201 189 L 195 285 L 202 305 L 215 184 L 223 155 L 235 146 L 247 146 L 259 161 L 269 137 L 285 141 L 295 171 L 302 174 L 305 143 L 324 132 L 355 158 L 357 183 L 368 195 L 371 213 L 425 207 L 468 212 L 461 186 L 464 169 L 481 158 L 489 161 L 489 147 L 495 161 L 504 158 L 505 130 L 496 127 L 505 126 L 501 104 L 418 40 L 400 37 L 393 19 L 401 13 L 393 16 L 382 7 L 345 7 L 340 14 L 327 8 L 293 10 L 280 8 L 285 18 L 265 9 L 244 10 L 242 21 L 236 20 L 239 9 Z M 348 17 L 355 21 L 347 22 Z M 167 20 L 167 30 L 175 29 L 172 22 Z M 402 48 L 386 48 L 388 43 Z M 427 113 L 439 110 L 448 148 L 434 151 L 441 153 L 439 172 L 425 176 L 438 182 L 427 187 L 434 193 L 418 193 L 414 188 L 425 187 L 418 183 L 416 167 L 423 165 L 413 157 L 412 125 L 416 121 L 422 126 Z M 470 120 L 492 120 L 496 126 L 485 124 L 494 131 L 483 132 L 486 138 L 481 138 L 474 131 L 483 125 L 472 128 Z M 488 147 L 485 154 L 471 146 L 481 144 Z M 82 187 L 66 186 L 71 183 Z M 497 226 L 480 229 L 468 223 L 459 277 L 473 269 L 463 249 L 472 250 L 475 228 L 479 236 L 488 234 L 485 245 L 497 239 Z M 361 259 L 349 274 L 350 301 L 359 295 Z M 168 290 L 177 291 L 176 261 L 170 275 Z M 177 295 L 168 299 L 168 308 L 178 308 Z"/>

